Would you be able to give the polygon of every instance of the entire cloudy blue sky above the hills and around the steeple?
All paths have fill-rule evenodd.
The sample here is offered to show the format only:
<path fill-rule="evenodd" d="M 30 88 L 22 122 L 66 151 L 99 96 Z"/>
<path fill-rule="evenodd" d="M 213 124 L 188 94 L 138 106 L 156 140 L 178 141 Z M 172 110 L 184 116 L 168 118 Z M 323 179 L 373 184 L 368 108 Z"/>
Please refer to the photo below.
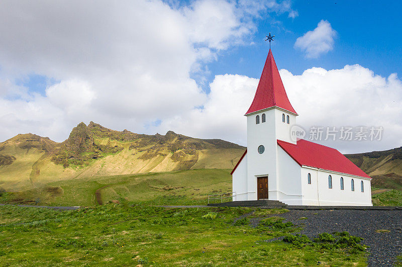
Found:
<path fill-rule="evenodd" d="M 300 126 L 324 127 L 324 137 L 326 127 L 383 127 L 381 141 L 321 142 L 344 153 L 398 147 L 401 8 L 397 1 L 2 0 L 0 141 L 31 132 L 60 142 L 79 122 L 94 121 L 246 145 L 243 115 L 271 32 Z"/>

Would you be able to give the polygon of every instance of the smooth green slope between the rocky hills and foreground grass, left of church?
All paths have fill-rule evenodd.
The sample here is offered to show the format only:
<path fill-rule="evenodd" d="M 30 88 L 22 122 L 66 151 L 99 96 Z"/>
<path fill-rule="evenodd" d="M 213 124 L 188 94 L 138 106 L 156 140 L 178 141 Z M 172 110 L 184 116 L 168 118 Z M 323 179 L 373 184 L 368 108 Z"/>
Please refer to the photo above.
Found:
<path fill-rule="evenodd" d="M 208 195 L 231 190 L 229 169 L 194 169 L 52 182 L 28 191 L 6 193 L 0 203 L 94 206 L 123 199 L 137 204 L 202 205 L 207 204 Z"/>

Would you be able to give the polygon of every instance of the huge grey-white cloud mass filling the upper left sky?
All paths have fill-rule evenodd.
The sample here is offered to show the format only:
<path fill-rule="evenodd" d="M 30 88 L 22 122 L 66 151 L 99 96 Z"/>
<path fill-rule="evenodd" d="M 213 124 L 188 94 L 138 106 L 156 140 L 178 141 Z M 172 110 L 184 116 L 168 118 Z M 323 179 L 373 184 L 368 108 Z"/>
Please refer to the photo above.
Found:
<path fill-rule="evenodd" d="M 154 133 L 152 122 L 194 113 L 211 96 L 191 77 L 205 82 L 206 63 L 248 40 L 260 13 L 292 11 L 255 3 L 265 4 L 250 13 L 224 0 L 1 1 L 0 140 L 63 141 L 90 120 Z M 58 82 L 42 96 L 17 85 L 31 74 Z"/>

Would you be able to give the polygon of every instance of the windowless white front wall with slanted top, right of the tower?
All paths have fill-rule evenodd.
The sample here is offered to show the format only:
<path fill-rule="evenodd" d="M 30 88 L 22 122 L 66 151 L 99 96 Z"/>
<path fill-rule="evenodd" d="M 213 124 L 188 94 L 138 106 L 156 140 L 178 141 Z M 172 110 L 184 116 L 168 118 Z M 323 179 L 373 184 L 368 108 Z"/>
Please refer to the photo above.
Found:
<path fill-rule="evenodd" d="M 287 205 L 303 205 L 302 179 L 300 179 L 302 167 L 300 167 L 300 165 L 297 164 L 281 147 L 277 146 L 277 149 L 278 172 L 280 177 L 279 187 L 277 189 L 277 194 L 279 196 L 278 200 Z"/>

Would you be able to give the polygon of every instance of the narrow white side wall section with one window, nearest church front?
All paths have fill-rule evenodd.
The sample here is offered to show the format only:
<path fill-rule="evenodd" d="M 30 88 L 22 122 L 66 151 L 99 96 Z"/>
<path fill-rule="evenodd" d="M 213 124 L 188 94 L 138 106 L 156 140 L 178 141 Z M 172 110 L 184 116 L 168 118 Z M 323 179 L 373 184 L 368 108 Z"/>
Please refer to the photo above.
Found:
<path fill-rule="evenodd" d="M 308 206 L 319 206 L 318 202 L 318 170 L 317 168 L 301 168 L 303 204 Z M 308 175 L 311 175 L 311 184 L 308 182 Z"/>

